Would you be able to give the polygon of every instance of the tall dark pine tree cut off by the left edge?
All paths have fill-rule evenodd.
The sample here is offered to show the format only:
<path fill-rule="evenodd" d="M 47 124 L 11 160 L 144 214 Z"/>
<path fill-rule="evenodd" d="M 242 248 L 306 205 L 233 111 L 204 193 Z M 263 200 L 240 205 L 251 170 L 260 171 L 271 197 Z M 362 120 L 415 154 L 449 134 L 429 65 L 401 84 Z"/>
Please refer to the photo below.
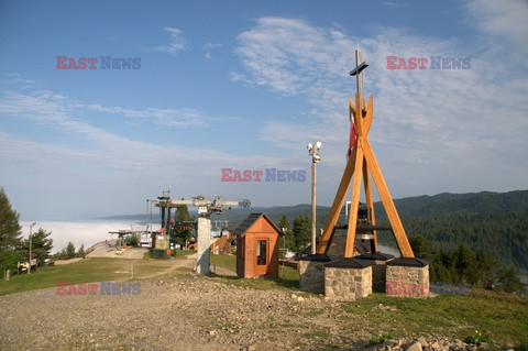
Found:
<path fill-rule="evenodd" d="M 23 260 L 19 251 L 22 238 L 19 223 L 20 215 L 11 208 L 8 196 L 0 187 L 0 268 L 13 270 L 16 262 Z"/>

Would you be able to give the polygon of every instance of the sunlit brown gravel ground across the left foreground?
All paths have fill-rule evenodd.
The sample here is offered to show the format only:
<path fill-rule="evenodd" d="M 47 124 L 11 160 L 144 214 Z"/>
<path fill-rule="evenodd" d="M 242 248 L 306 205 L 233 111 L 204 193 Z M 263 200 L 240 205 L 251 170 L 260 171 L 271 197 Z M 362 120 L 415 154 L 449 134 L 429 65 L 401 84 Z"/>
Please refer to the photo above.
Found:
<path fill-rule="evenodd" d="M 0 349 L 476 349 L 446 339 L 369 345 L 376 326 L 350 318 L 340 303 L 300 292 L 240 287 L 190 273 L 132 283 L 141 284 L 139 295 L 101 295 L 99 287 L 96 295 L 57 295 L 47 288 L 1 296 Z"/>

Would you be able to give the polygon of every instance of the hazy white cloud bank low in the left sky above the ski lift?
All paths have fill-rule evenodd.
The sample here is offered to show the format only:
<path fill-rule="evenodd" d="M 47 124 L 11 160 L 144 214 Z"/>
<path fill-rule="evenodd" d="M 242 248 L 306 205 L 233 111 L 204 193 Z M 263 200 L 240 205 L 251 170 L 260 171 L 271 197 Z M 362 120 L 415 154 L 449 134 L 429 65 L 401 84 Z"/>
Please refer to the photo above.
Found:
<path fill-rule="evenodd" d="M 107 108 L 45 90 L 32 94 L 9 90 L 0 95 L 2 119 L 30 122 L 32 128 L 40 129 L 37 133 L 28 134 L 24 129 L 0 131 L 0 184 L 8 190 L 16 188 L 13 191 L 19 196 L 14 202 L 23 204 L 23 217 L 45 219 L 75 213 L 86 218 L 133 212 L 136 211 L 134 208 L 142 209 L 144 198 L 155 196 L 166 185 L 175 186 L 178 196 L 212 196 L 221 187 L 222 191 L 230 191 L 222 193 L 230 198 L 238 198 L 238 194 L 242 194 L 241 198 L 251 197 L 257 190 L 254 184 L 222 184 L 220 169 L 293 167 L 287 155 L 239 156 L 206 147 L 200 138 L 190 145 L 179 144 L 178 140 L 145 142 L 127 138 L 79 118 L 92 111 L 136 118 L 155 116 L 161 119 L 160 123 L 167 124 L 172 123 L 174 112 L 169 110 L 170 113 L 166 114 L 165 110 L 154 108 L 145 111 Z M 195 110 L 178 111 L 190 118 L 198 113 Z M 168 120 L 163 121 L 165 116 Z M 212 119 L 233 120 L 222 116 Z M 51 132 L 53 136 L 48 136 Z M 30 135 L 38 140 L 32 140 Z M 75 142 L 55 140 L 62 138 Z M 301 164 L 299 161 L 297 168 Z M 28 197 L 23 198 L 23 194 Z M 282 196 L 288 198 L 286 193 Z"/>

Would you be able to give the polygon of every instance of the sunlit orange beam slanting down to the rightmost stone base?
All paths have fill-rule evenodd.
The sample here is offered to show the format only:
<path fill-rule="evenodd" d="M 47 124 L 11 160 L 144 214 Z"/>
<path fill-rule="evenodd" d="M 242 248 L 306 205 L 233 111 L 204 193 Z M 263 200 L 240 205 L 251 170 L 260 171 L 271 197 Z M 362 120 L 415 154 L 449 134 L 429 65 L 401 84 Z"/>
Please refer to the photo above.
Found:
<path fill-rule="evenodd" d="M 376 156 L 372 151 L 371 143 L 366 138 L 363 144 L 363 152 L 365 154 L 365 161 L 369 171 L 372 174 L 372 178 L 374 179 L 374 184 L 376 185 L 377 193 L 380 194 L 380 198 L 382 199 L 383 207 L 387 212 L 388 221 L 391 222 L 391 227 L 393 228 L 394 237 L 396 239 L 396 243 L 398 244 L 399 252 L 402 253 L 403 257 L 414 257 L 415 254 L 413 253 L 413 249 L 410 248 L 404 226 L 402 224 L 402 220 L 399 219 L 398 212 L 396 211 L 396 207 L 394 206 L 393 198 L 391 197 L 391 193 L 388 191 L 387 184 L 385 183 L 382 171 L 380 169 Z"/>

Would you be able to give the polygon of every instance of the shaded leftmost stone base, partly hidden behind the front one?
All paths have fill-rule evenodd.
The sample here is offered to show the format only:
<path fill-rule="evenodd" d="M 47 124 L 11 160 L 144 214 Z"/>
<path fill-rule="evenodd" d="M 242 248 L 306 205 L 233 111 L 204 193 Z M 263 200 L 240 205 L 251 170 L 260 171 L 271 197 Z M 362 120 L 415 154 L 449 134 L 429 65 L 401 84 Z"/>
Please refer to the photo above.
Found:
<path fill-rule="evenodd" d="M 324 294 L 324 263 L 331 259 L 324 254 L 312 254 L 299 260 L 300 289 L 308 293 Z"/>

